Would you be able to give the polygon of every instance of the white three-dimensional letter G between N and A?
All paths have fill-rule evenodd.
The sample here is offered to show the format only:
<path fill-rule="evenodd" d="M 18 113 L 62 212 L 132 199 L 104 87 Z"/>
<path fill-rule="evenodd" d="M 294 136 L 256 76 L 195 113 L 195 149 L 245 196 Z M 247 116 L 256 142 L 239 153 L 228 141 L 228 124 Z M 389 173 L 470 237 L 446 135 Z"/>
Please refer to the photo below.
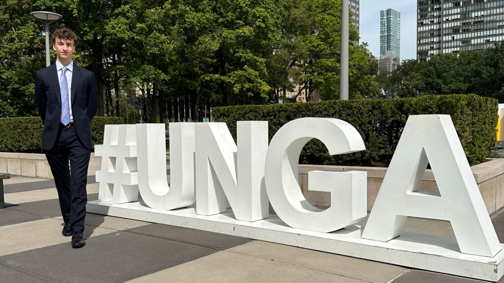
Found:
<path fill-rule="evenodd" d="M 324 211 L 314 207 L 304 198 L 297 175 L 299 154 L 312 138 L 320 139 L 331 155 L 365 149 L 360 134 L 345 121 L 333 118 L 290 121 L 271 140 L 265 165 L 266 189 L 273 209 L 289 226 L 331 232 L 366 216 L 366 172 L 309 172 L 310 190 L 331 192 L 331 207 Z M 313 179 L 315 176 L 317 179 Z"/>

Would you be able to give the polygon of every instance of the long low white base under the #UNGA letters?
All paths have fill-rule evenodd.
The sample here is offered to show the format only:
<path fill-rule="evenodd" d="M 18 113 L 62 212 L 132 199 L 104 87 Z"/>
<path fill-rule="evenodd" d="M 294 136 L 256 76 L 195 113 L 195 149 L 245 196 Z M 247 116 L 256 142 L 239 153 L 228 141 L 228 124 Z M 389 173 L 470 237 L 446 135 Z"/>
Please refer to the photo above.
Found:
<path fill-rule="evenodd" d="M 160 210 L 143 206 L 138 201 L 122 204 L 90 201 L 86 208 L 89 213 L 228 234 L 494 282 L 504 274 L 503 250 L 494 257 L 463 254 L 456 239 L 449 237 L 402 232 L 400 237 L 379 242 L 361 239 L 361 228 L 356 225 L 321 233 L 291 228 L 276 215 L 245 222 L 236 220 L 231 209 L 223 214 L 202 216 L 196 215 L 195 207 Z"/>

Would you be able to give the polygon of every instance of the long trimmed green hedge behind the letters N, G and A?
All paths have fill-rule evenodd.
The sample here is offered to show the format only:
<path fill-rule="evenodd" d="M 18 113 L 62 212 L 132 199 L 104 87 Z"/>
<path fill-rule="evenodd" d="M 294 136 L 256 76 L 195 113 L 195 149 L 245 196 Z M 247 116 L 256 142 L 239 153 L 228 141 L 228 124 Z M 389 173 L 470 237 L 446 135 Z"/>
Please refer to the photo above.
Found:
<path fill-rule="evenodd" d="M 384 166 L 392 159 L 409 115 L 449 114 L 471 165 L 482 162 L 495 146 L 497 100 L 476 95 L 436 95 L 403 99 L 323 101 L 274 105 L 216 107 L 215 122 L 226 122 L 236 138 L 236 121 L 269 121 L 269 138 L 285 123 L 302 117 L 333 117 L 352 124 L 361 134 L 365 151 L 330 156 L 311 140 L 301 152 L 303 164 Z"/>

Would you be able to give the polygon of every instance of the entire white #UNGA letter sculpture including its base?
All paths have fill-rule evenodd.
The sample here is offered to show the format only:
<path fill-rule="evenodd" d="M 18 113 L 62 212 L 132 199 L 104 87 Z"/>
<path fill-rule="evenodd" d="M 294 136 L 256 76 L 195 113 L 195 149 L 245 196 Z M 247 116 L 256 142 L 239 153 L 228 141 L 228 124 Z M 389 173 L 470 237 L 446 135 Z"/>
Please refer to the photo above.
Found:
<path fill-rule="evenodd" d="M 87 209 L 485 280 L 504 275 L 501 244 L 450 116 L 408 118 L 363 228 L 352 224 L 366 215 L 366 172 L 310 171 L 308 190 L 330 192 L 331 206 L 304 198 L 298 161 L 312 138 L 332 155 L 365 149 L 353 126 L 333 118 L 288 122 L 269 147 L 267 122 L 238 122 L 237 145 L 225 123 L 171 123 L 168 187 L 164 125 L 106 125 L 95 148 L 99 197 Z M 419 190 L 429 162 L 438 193 Z M 268 198 L 277 216 L 268 214 Z M 450 221 L 456 238 L 402 232 L 408 216 Z"/>

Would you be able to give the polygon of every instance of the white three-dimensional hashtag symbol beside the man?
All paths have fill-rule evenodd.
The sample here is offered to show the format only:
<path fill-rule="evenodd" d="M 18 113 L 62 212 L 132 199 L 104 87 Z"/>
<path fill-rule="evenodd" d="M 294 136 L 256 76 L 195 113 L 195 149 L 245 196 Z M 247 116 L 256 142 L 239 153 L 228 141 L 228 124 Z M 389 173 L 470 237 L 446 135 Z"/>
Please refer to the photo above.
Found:
<path fill-rule="evenodd" d="M 136 125 L 105 125 L 103 145 L 95 146 L 101 156 L 99 201 L 127 203 L 138 200 Z"/>

